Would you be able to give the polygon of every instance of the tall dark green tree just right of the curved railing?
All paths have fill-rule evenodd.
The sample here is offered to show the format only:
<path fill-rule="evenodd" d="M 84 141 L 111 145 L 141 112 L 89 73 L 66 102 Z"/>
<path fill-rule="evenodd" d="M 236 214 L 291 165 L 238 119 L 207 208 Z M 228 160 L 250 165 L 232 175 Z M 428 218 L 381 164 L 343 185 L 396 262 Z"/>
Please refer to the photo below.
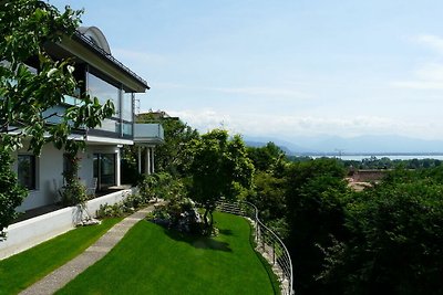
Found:
<path fill-rule="evenodd" d="M 324 259 L 319 245 L 331 245 L 331 234 L 339 238 L 346 234 L 348 188 L 343 178 L 344 169 L 334 159 L 297 162 L 288 170 L 286 206 L 290 232 L 286 242 L 296 265 L 300 294 L 327 289 L 315 280 Z"/>

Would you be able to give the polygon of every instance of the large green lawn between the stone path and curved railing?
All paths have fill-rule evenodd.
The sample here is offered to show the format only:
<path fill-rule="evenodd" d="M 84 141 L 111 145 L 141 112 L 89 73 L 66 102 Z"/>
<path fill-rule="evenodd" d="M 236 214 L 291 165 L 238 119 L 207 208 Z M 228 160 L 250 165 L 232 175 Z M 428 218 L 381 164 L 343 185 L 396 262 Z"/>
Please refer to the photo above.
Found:
<path fill-rule="evenodd" d="M 275 294 L 249 223 L 216 213 L 215 239 L 141 221 L 101 261 L 58 294 Z"/>

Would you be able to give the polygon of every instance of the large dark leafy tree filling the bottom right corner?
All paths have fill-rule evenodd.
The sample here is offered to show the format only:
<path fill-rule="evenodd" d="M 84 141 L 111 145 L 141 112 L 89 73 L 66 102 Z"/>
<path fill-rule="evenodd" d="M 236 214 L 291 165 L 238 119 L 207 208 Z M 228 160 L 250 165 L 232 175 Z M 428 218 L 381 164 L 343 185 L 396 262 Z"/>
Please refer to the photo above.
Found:
<path fill-rule="evenodd" d="M 329 250 L 323 278 L 342 294 L 442 294 L 442 193 L 430 179 L 356 193 L 349 239 Z"/>

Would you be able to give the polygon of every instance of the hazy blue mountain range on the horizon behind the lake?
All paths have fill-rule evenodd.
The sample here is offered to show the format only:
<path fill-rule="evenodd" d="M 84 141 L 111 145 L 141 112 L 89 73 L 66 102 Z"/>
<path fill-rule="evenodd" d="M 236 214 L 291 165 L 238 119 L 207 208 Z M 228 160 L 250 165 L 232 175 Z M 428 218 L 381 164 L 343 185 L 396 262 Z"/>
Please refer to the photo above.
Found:
<path fill-rule="evenodd" d="M 404 136 L 364 135 L 351 138 L 339 136 L 272 137 L 244 136 L 249 146 L 264 146 L 272 141 L 287 155 L 393 155 L 443 154 L 443 140 L 425 140 Z"/>

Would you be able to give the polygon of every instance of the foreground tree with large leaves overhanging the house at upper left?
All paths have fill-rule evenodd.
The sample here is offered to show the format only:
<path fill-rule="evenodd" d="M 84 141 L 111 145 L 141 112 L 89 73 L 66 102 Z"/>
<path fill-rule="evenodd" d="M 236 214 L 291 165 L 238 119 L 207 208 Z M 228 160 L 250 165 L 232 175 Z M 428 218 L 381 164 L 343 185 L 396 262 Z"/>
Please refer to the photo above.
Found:
<path fill-rule="evenodd" d="M 73 154 L 81 141 L 69 140 L 72 130 L 93 128 L 114 113 L 111 102 L 101 105 L 97 98 L 83 95 L 83 103 L 62 114 L 53 107 L 73 95 L 78 82 L 72 60 L 53 60 L 45 51 L 48 43 L 70 38 L 80 23 L 82 11 L 69 7 L 61 13 L 55 7 L 39 0 L 0 1 L 0 152 L 22 147 L 30 138 L 29 150 L 39 155 L 43 145 L 53 143 Z M 38 72 L 28 66 L 33 62 Z M 58 124 L 50 124 L 56 118 Z M 6 165 L 8 160 L 1 161 Z M 7 171 L 10 166 L 2 166 Z M 0 231 L 14 217 L 13 209 L 23 196 L 6 192 L 1 207 Z M 9 212 L 9 213 L 8 213 Z"/>

